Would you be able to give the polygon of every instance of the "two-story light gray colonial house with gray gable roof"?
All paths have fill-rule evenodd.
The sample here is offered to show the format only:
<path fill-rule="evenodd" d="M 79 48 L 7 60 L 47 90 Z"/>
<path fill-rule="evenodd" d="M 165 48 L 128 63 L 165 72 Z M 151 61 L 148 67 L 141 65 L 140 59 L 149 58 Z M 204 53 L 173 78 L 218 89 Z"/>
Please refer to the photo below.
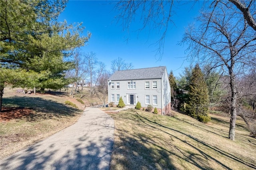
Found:
<path fill-rule="evenodd" d="M 135 107 L 139 101 L 142 107 L 156 107 L 162 115 L 170 113 L 170 83 L 166 67 L 116 71 L 108 79 L 108 103 L 118 105 L 120 97 L 125 105 Z"/>

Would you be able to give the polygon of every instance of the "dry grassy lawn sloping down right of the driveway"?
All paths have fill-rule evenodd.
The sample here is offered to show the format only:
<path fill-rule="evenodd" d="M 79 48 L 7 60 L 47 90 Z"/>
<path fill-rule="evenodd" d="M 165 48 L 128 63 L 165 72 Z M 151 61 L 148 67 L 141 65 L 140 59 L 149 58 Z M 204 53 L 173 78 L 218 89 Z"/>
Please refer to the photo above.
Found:
<path fill-rule="evenodd" d="M 115 121 L 111 170 L 256 168 L 256 138 L 238 118 L 236 140 L 229 119 L 210 115 L 203 124 L 187 115 L 154 115 L 131 109 L 109 113 Z"/>

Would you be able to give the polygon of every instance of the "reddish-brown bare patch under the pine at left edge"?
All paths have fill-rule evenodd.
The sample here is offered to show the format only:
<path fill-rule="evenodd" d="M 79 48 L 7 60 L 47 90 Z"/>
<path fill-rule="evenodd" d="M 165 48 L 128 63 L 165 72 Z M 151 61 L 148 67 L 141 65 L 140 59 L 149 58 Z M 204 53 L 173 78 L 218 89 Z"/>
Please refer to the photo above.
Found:
<path fill-rule="evenodd" d="M 2 107 L 0 122 L 8 122 L 14 119 L 23 119 L 33 114 L 34 111 L 22 107 Z"/>

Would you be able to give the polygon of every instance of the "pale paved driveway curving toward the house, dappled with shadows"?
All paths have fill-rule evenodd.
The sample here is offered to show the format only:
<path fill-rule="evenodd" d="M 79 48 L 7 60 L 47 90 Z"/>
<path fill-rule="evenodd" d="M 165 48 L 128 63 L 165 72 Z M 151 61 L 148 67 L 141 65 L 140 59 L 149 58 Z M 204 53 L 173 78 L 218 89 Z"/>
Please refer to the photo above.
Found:
<path fill-rule="evenodd" d="M 88 107 L 77 123 L 1 160 L 1 170 L 108 170 L 114 120 Z"/>

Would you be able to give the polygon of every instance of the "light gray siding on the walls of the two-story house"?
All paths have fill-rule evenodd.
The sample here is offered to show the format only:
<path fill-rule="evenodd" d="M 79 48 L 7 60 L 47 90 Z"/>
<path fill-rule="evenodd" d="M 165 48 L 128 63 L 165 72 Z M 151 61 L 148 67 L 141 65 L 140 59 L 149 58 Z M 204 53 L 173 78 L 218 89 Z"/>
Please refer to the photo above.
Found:
<path fill-rule="evenodd" d="M 161 68 L 162 69 L 162 68 Z M 135 70 L 134 70 L 135 71 Z M 118 72 L 117 72 L 118 73 Z M 121 71 L 120 71 L 121 73 Z M 116 75 L 116 77 L 121 75 Z M 111 79 L 110 79 L 111 80 Z M 145 82 L 149 81 L 149 89 L 146 89 Z M 153 89 L 153 81 L 157 82 L 157 89 Z M 128 89 L 128 82 L 131 80 L 111 80 L 111 83 L 114 83 L 114 89 L 111 89 L 111 83 L 108 83 L 108 103 L 111 102 L 112 94 L 114 94 L 114 105 L 118 105 L 117 94 L 122 97 L 125 105 L 131 105 L 129 103 L 129 95 L 134 96 L 134 107 L 139 101 L 142 107 L 147 107 L 152 105 L 158 109 L 163 109 L 170 103 L 170 84 L 167 71 L 164 67 L 162 72 L 162 77 L 152 78 L 152 79 L 132 79 L 132 82 L 136 82 L 136 89 Z M 116 83 L 120 83 L 120 89 L 116 88 Z M 146 95 L 150 96 L 149 104 L 146 104 Z M 153 96 L 157 96 L 157 105 L 153 104 Z"/>

